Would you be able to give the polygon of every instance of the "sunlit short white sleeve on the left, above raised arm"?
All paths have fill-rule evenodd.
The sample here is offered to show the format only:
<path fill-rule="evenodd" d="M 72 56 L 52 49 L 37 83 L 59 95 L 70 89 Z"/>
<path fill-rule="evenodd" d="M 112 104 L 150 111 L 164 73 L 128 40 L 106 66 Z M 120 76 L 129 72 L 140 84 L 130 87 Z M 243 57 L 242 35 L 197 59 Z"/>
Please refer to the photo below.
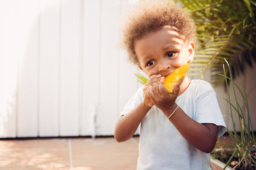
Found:
<path fill-rule="evenodd" d="M 133 110 L 140 102 L 143 101 L 143 86 L 141 86 L 130 98 L 128 103 L 125 105 L 124 109 L 122 110 L 120 116 L 126 115 L 131 110 Z"/>

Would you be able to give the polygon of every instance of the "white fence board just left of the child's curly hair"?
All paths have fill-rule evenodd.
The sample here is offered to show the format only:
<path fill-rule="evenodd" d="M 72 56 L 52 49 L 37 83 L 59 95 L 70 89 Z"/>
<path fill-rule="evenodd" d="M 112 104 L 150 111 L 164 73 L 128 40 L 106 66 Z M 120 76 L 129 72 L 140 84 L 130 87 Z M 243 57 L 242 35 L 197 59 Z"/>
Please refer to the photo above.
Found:
<path fill-rule="evenodd" d="M 119 49 L 118 22 L 119 0 L 101 1 L 101 50 L 100 50 L 100 108 L 99 130 L 102 135 L 111 135 L 118 112 Z"/>

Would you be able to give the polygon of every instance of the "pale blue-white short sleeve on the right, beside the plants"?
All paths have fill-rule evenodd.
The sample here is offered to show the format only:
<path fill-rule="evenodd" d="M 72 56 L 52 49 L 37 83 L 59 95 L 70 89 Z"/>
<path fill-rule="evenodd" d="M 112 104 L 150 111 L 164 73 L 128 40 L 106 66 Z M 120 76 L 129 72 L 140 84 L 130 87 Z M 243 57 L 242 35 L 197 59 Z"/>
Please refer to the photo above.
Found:
<path fill-rule="evenodd" d="M 226 124 L 219 109 L 216 93 L 209 83 L 199 87 L 196 94 L 195 120 L 199 123 L 213 123 L 219 127 L 218 137 L 226 132 Z"/>

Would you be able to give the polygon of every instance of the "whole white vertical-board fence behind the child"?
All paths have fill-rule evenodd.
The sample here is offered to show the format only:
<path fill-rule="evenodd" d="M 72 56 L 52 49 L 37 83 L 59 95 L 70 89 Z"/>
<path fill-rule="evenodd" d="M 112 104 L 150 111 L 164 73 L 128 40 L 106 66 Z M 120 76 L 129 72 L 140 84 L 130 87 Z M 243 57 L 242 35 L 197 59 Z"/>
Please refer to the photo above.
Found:
<path fill-rule="evenodd" d="M 117 45 L 128 5 L 0 0 L 0 138 L 113 135 L 120 111 L 140 86 L 139 70 Z M 226 112 L 227 104 L 220 105 Z"/>

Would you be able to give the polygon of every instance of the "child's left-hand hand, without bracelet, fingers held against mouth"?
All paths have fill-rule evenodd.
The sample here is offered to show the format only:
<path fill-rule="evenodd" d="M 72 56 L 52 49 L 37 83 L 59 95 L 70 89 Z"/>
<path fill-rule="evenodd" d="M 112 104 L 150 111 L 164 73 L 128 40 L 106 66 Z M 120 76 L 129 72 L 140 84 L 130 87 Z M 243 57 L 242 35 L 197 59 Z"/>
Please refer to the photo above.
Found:
<path fill-rule="evenodd" d="M 145 94 L 145 91 L 148 89 L 148 87 L 154 86 L 155 84 L 164 83 L 165 77 L 161 75 L 152 75 L 149 77 L 148 81 L 146 82 L 143 92 L 144 92 L 144 99 L 143 99 L 143 105 L 146 105 L 148 107 L 152 107 L 154 104 L 149 100 L 148 96 Z"/>

